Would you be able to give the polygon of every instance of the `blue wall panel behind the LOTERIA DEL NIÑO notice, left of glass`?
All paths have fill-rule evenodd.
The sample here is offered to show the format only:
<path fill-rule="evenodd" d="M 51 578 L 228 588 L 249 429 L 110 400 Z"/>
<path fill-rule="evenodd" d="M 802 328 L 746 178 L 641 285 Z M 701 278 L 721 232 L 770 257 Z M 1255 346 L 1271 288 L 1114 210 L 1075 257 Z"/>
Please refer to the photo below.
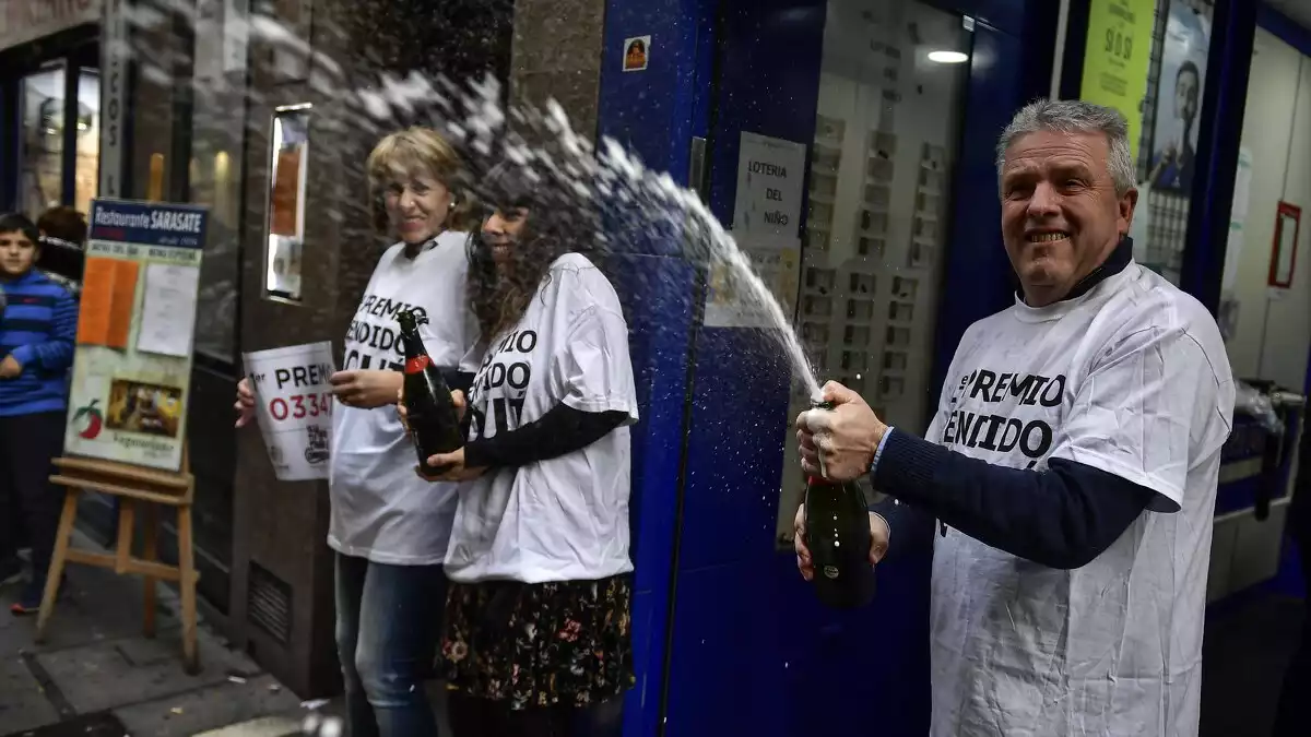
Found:
<path fill-rule="evenodd" d="M 725 224 L 742 131 L 814 138 L 823 18 L 822 0 L 720 3 L 709 203 Z M 745 329 L 704 329 L 695 361 L 665 733 L 796 733 L 783 643 L 798 597 L 780 586 L 804 591 L 775 549 L 789 367 Z"/>

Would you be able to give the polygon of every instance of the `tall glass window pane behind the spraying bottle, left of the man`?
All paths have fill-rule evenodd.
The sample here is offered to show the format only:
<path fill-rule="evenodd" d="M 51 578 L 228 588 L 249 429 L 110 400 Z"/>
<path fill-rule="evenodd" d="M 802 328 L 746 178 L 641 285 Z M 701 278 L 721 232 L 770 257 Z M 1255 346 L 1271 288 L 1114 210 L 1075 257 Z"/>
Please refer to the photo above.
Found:
<path fill-rule="evenodd" d="M 937 400 L 933 328 L 969 51 L 961 16 L 915 0 L 827 7 L 796 320 L 818 375 L 918 434 Z M 783 479 L 800 479 L 796 443 L 784 448 Z M 780 504 L 780 544 L 796 509 Z"/>

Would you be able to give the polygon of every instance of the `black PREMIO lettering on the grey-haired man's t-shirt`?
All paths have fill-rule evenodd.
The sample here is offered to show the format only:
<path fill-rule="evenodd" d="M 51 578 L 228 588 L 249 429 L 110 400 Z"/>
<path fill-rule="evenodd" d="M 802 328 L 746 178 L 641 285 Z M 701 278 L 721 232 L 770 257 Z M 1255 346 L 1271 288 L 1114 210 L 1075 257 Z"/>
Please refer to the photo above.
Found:
<path fill-rule="evenodd" d="M 1023 418 L 1008 413 L 969 412 L 960 408 L 961 400 L 969 400 L 975 407 L 977 403 L 998 405 L 1002 412 L 1023 407 L 1050 410 L 1062 405 L 1065 389 L 1065 374 L 1051 378 L 978 368 L 961 376 L 952 392 L 950 414 L 943 428 L 941 443 L 998 454 L 1019 450 L 1029 459 L 1027 467 L 1033 468 L 1051 451 L 1054 435 L 1050 417 L 1033 417 L 1032 410 L 1021 412 L 1020 414 L 1025 414 Z"/>

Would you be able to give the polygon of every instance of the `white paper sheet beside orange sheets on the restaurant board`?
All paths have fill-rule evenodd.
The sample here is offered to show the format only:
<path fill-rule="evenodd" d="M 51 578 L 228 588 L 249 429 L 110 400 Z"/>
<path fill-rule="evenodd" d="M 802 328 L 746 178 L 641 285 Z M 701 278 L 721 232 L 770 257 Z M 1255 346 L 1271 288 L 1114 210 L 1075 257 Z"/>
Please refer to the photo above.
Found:
<path fill-rule="evenodd" d="M 191 355 L 199 285 L 201 270 L 195 266 L 146 266 L 146 298 L 136 350 L 181 358 Z"/>

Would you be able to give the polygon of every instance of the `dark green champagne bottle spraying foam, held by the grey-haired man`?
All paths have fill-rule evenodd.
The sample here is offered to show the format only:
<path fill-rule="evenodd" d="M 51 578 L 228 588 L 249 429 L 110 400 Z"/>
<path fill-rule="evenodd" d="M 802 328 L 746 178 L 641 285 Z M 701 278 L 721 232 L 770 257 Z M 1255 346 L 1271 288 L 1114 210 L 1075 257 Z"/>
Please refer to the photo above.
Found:
<path fill-rule="evenodd" d="M 812 403 L 832 409 L 830 403 Z M 874 567 L 869 564 L 869 511 L 855 481 L 835 484 L 819 476 L 806 480 L 806 547 L 814 563 L 815 595 L 834 608 L 856 608 L 874 598 Z"/>

